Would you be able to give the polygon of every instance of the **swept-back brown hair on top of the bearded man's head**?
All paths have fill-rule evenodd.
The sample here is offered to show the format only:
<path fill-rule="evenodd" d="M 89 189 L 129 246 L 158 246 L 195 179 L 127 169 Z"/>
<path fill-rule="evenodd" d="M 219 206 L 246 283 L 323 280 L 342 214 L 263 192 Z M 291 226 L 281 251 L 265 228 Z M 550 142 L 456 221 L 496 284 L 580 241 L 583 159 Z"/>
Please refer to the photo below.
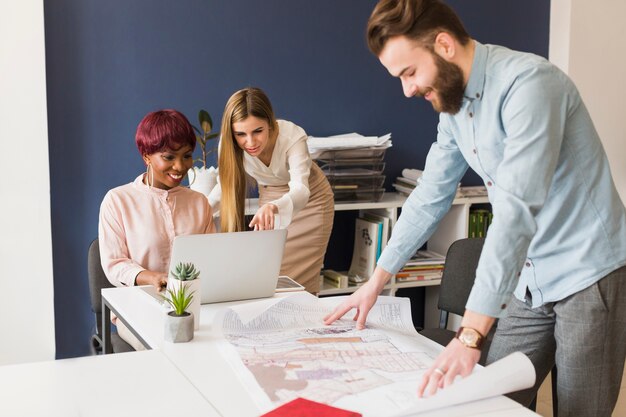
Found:
<path fill-rule="evenodd" d="M 367 22 L 367 46 L 379 56 L 390 38 L 406 36 L 430 48 L 440 32 L 462 45 L 470 40 L 461 19 L 440 0 L 381 0 Z"/>

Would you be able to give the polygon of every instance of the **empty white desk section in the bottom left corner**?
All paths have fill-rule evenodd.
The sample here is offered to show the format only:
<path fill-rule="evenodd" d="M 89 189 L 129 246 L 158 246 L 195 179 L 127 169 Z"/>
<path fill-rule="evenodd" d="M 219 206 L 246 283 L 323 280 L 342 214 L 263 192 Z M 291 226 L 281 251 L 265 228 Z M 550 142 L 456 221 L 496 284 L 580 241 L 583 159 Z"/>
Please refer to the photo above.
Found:
<path fill-rule="evenodd" d="M 160 351 L 0 367 L 0 416 L 220 414 Z"/>

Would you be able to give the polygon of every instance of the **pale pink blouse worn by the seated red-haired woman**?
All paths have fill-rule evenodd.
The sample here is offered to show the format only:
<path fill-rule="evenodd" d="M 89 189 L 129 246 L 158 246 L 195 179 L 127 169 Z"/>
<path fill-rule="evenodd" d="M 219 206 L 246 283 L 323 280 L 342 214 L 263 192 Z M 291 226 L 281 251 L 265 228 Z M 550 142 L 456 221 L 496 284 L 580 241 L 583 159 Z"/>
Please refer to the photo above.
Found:
<path fill-rule="evenodd" d="M 180 186 L 150 188 L 143 176 L 110 190 L 100 205 L 102 268 L 117 287 L 135 285 L 146 269 L 168 272 L 174 237 L 215 232 L 204 195 Z"/>

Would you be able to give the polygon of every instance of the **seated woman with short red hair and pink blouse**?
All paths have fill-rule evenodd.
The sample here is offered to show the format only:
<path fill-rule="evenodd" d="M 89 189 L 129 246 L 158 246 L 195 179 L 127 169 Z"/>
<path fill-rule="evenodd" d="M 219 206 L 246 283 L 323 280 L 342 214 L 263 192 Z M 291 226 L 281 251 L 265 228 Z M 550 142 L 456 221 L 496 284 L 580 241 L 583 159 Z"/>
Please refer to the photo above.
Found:
<path fill-rule="evenodd" d="M 110 190 L 100 206 L 98 240 L 102 268 L 117 287 L 167 284 L 174 238 L 215 232 L 206 197 L 181 181 L 193 164 L 196 136 L 176 110 L 147 114 L 135 141 L 146 172 Z M 115 319 L 114 319 L 115 323 Z M 116 323 L 120 337 L 142 348 Z"/>

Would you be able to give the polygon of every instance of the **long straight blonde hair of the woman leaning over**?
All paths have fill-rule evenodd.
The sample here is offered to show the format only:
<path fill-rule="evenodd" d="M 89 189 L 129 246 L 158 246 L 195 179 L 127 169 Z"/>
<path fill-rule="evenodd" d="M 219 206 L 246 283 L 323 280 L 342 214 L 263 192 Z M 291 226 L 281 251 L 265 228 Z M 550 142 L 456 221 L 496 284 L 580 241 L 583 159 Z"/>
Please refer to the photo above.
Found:
<path fill-rule="evenodd" d="M 245 120 L 248 116 L 267 121 L 270 134 L 278 131 L 272 103 L 260 88 L 244 88 L 228 99 L 222 116 L 222 137 L 218 156 L 222 187 L 220 207 L 222 232 L 246 230 L 244 212 L 248 184 L 243 167 L 243 149 L 235 140 L 233 123 Z"/>

